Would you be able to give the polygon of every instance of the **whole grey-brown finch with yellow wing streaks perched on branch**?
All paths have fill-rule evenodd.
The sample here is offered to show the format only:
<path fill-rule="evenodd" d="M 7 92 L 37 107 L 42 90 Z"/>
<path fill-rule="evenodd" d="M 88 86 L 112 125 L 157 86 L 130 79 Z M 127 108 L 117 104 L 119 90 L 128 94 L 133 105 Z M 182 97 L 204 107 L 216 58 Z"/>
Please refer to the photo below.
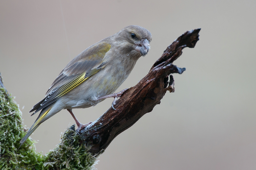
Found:
<path fill-rule="evenodd" d="M 46 92 L 45 98 L 29 111 L 36 114 L 35 123 L 20 140 L 20 146 L 38 126 L 63 109 L 74 118 L 80 131 L 91 124 L 81 124 L 72 112 L 91 107 L 106 98 L 118 97 L 126 90 L 114 93 L 131 73 L 136 61 L 150 49 L 152 35 L 147 29 L 130 25 L 82 51 L 61 71 Z M 31 116 L 32 116 L 31 115 Z"/>

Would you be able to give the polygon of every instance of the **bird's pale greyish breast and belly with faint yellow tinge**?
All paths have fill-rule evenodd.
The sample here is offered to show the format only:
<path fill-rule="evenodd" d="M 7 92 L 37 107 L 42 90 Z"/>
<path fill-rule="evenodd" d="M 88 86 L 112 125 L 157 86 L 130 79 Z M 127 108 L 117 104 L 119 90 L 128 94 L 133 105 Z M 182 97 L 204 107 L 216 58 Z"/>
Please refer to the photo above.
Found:
<path fill-rule="evenodd" d="M 97 98 L 114 93 L 131 73 L 136 60 L 115 60 L 66 95 L 71 108 L 87 108 Z M 97 101 L 97 102 L 95 102 Z"/>

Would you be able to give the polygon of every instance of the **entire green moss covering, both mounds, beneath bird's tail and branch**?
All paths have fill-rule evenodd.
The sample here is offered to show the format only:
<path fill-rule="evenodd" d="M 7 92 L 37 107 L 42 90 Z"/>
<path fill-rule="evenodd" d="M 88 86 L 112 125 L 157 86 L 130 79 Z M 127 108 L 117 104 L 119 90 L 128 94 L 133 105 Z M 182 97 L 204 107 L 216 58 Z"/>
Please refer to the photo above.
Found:
<path fill-rule="evenodd" d="M 17 150 L 25 134 L 21 111 L 5 89 L 0 88 L 0 169 L 94 169 L 96 158 L 88 152 L 89 146 L 79 143 L 74 125 L 46 155 L 35 151 L 30 137 Z"/>

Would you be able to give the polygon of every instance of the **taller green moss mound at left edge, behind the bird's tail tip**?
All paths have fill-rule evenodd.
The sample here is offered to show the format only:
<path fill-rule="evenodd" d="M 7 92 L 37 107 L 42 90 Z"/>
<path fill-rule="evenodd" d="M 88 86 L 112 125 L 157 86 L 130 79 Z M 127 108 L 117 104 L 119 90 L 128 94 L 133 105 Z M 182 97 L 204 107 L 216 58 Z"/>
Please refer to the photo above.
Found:
<path fill-rule="evenodd" d="M 34 169 L 42 167 L 42 154 L 33 149 L 33 141 L 28 139 L 17 151 L 19 141 L 26 134 L 22 125 L 22 113 L 17 104 L 0 89 L 0 169 Z"/>

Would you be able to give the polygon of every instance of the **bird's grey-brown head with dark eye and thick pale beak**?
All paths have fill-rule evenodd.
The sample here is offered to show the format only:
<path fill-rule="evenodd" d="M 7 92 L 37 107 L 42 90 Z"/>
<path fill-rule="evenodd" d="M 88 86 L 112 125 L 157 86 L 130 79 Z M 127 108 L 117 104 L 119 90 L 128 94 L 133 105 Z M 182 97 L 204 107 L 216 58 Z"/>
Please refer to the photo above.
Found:
<path fill-rule="evenodd" d="M 118 34 L 125 41 L 129 50 L 136 50 L 140 52 L 141 56 L 145 56 L 149 51 L 152 35 L 147 29 L 130 25 L 123 28 Z"/>

